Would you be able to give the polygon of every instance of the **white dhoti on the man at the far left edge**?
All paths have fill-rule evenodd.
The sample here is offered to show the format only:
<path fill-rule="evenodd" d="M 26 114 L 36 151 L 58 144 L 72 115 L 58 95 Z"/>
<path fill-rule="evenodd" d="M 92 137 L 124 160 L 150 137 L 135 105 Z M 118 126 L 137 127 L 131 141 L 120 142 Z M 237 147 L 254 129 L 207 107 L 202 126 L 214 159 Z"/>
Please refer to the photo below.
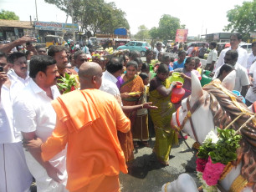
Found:
<path fill-rule="evenodd" d="M 31 183 L 22 142 L 0 144 L 0 191 L 27 192 Z"/>

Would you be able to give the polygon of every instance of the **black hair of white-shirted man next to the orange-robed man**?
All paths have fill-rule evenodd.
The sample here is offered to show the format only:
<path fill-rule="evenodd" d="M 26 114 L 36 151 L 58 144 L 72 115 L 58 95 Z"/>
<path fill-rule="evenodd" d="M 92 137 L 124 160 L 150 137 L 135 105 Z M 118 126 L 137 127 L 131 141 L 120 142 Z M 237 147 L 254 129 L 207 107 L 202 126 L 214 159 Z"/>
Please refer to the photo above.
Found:
<path fill-rule="evenodd" d="M 46 73 L 47 67 L 55 63 L 55 59 L 49 55 L 34 55 L 29 64 L 30 78 L 35 78 L 40 71 Z"/>

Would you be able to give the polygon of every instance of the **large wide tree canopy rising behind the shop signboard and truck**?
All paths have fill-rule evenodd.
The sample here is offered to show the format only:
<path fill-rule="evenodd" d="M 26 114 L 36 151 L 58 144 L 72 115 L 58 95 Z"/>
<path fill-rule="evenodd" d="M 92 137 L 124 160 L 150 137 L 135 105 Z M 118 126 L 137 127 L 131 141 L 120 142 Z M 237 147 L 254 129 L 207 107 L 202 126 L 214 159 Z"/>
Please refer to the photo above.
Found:
<path fill-rule="evenodd" d="M 129 23 L 125 19 L 125 12 L 116 8 L 115 3 L 105 3 L 104 0 L 44 0 L 71 16 L 71 8 L 74 10 L 74 23 L 81 25 L 82 31 L 97 30 L 100 33 L 114 33 L 115 28 L 129 29 Z"/>

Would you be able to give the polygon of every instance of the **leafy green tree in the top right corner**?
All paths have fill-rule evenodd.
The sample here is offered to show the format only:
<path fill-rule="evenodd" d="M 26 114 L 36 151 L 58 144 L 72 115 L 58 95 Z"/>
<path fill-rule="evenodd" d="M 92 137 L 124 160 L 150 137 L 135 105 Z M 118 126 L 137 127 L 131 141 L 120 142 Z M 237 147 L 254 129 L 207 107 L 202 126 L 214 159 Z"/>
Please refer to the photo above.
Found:
<path fill-rule="evenodd" d="M 243 41 L 247 41 L 250 32 L 255 31 L 256 26 L 256 0 L 243 2 L 242 6 L 236 5 L 227 13 L 228 25 L 224 31 L 239 32 L 243 35 Z"/>

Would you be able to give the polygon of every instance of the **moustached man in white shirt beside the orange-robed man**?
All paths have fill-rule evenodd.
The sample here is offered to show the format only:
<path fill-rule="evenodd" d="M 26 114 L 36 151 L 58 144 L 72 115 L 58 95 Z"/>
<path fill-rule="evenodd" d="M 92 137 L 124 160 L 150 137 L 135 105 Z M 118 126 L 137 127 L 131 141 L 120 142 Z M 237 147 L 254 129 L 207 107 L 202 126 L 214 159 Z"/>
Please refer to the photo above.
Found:
<path fill-rule="evenodd" d="M 23 142 L 40 138 L 47 140 L 52 134 L 56 114 L 51 104 L 59 97 L 56 87 L 59 72 L 54 58 L 48 55 L 34 56 L 30 60 L 29 84 L 13 102 L 13 119 L 21 131 Z M 24 151 L 28 169 L 36 179 L 37 191 L 67 191 L 65 189 L 66 150 L 60 150 L 49 161 L 42 161 L 39 153 Z M 59 176 L 58 176 L 59 175 Z"/>

